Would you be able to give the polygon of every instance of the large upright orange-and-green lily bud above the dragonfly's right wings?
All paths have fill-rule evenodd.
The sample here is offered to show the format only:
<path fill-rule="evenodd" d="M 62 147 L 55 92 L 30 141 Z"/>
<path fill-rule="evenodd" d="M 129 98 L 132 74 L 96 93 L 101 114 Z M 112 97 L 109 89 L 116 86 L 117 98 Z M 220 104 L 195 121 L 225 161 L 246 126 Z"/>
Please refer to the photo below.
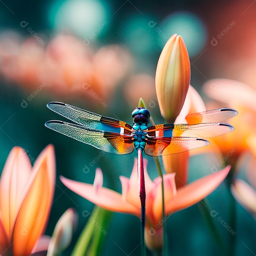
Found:
<path fill-rule="evenodd" d="M 156 68 L 156 95 L 161 115 L 173 123 L 179 115 L 190 82 L 190 62 L 181 36 L 172 35 L 166 42 Z"/>

